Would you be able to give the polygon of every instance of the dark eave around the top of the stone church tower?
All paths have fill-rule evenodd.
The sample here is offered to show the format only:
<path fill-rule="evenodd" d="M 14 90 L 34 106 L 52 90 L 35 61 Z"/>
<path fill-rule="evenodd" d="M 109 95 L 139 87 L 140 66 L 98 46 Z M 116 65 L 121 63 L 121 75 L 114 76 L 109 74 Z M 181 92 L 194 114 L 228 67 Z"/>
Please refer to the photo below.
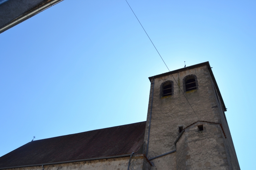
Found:
<path fill-rule="evenodd" d="M 204 62 L 204 63 L 200 63 L 200 64 L 195 64 L 195 65 L 191 65 L 191 66 L 188 66 L 188 67 L 185 67 L 185 68 L 181 68 L 181 69 L 178 69 L 178 70 L 173 70 L 173 71 L 170 71 L 170 72 L 166 72 L 166 73 L 162 73 L 160 75 L 156 75 L 156 76 L 151 76 L 149 77 L 149 81 L 151 83 L 151 79 L 154 78 L 160 78 L 160 77 L 163 77 L 163 76 L 169 76 L 171 74 L 175 74 L 175 73 L 179 73 L 179 72 L 182 72 L 182 71 L 185 71 L 185 70 L 190 70 L 190 69 L 195 69 L 195 68 L 198 68 L 198 67 L 202 67 L 202 66 L 207 66 L 208 70 L 209 70 L 209 73 L 211 75 L 211 78 L 213 79 L 213 83 L 214 83 L 214 86 L 216 87 L 216 90 L 217 90 L 217 93 L 218 93 L 218 96 L 220 97 L 220 100 L 221 100 L 221 105 L 224 109 L 224 111 L 226 112 L 227 111 L 227 108 L 224 104 L 224 100 L 222 98 L 222 95 L 221 95 L 221 92 L 220 92 L 220 89 L 218 87 L 218 84 L 216 82 L 216 79 L 213 75 L 213 71 L 211 70 L 211 66 L 210 66 L 210 63 L 209 62 Z"/>

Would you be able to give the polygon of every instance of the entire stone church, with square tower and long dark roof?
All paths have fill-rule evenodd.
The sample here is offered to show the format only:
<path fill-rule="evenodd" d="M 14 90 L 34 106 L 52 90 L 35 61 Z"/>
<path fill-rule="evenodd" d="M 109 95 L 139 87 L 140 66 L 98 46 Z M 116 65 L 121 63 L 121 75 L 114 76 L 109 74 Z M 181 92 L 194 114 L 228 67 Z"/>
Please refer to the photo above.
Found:
<path fill-rule="evenodd" d="M 240 170 L 209 62 L 149 81 L 146 121 L 28 142 L 0 170 Z"/>

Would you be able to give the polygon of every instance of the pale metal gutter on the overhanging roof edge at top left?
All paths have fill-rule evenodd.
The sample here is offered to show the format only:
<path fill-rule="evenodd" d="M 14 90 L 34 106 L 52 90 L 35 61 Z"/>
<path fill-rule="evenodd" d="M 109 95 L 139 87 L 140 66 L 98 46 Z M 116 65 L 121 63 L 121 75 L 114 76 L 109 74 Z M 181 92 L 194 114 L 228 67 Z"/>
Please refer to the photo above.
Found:
<path fill-rule="evenodd" d="M 61 2 L 61 1 L 63 1 L 63 0 L 52 0 L 50 2 L 47 2 L 47 3 L 43 4 L 42 6 L 36 8 L 34 10 L 32 10 L 31 12 L 20 16 L 19 18 L 13 20 L 12 22 L 5 25 L 4 27 L 0 28 L 0 34 L 4 31 L 6 31 L 7 29 L 10 29 L 10 28 L 18 25 L 19 23 L 31 18 L 32 16 L 42 12 L 43 10 L 56 5 L 57 3 Z"/>

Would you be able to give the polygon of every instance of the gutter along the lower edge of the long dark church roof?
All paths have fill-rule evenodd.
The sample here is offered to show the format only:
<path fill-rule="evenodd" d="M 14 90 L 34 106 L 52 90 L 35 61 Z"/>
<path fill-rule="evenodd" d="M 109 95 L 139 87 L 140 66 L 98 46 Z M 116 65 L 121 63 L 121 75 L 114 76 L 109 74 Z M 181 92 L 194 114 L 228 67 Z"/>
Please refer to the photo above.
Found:
<path fill-rule="evenodd" d="M 16 166 L 16 167 L 4 167 L 4 168 L 0 168 L 0 169 L 37 167 L 37 166 L 42 166 L 42 165 L 54 165 L 54 164 L 62 164 L 62 163 L 72 163 L 72 162 L 82 162 L 82 161 L 92 161 L 92 160 L 103 160 L 103 159 L 109 159 L 109 158 L 119 158 L 119 157 L 128 157 L 128 156 L 131 156 L 131 154 L 115 155 L 115 156 L 105 156 L 105 157 L 97 157 L 97 158 L 87 158 L 87 159 L 73 160 L 73 161 L 42 163 L 42 164 L 34 164 L 34 165 L 21 165 L 21 166 Z"/>

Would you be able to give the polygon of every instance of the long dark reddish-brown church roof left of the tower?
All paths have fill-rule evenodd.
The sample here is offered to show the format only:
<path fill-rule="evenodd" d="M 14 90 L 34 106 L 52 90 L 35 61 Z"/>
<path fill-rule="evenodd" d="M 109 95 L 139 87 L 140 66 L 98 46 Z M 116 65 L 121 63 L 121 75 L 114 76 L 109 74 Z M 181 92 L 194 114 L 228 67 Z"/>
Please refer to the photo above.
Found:
<path fill-rule="evenodd" d="M 29 142 L 0 157 L 0 168 L 81 160 L 137 152 L 145 122 Z"/>

